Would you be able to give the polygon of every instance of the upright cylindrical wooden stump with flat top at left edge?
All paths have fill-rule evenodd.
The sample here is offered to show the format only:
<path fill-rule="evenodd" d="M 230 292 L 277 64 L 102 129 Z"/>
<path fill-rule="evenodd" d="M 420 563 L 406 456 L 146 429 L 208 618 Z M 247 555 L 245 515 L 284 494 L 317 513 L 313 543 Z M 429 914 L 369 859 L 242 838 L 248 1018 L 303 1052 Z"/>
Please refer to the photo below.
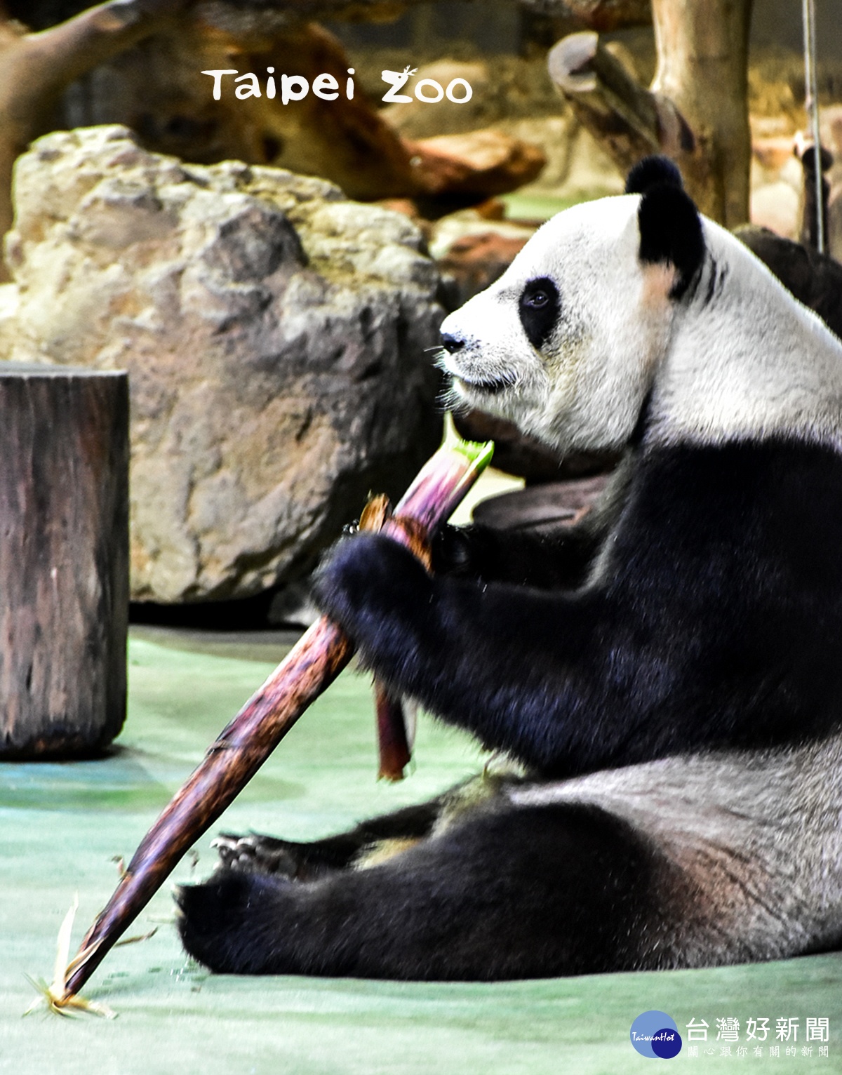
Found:
<path fill-rule="evenodd" d="M 0 758 L 123 727 L 128 376 L 0 362 Z"/>

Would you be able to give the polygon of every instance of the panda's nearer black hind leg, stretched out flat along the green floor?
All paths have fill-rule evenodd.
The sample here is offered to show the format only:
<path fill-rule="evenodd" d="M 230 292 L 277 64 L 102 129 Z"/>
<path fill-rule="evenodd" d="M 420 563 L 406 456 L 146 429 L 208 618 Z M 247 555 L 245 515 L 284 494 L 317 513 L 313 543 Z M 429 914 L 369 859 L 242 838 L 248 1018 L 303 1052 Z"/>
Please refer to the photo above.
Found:
<path fill-rule="evenodd" d="M 654 966 L 656 860 L 599 807 L 500 803 L 312 882 L 219 870 L 177 891 L 179 928 L 219 973 L 476 980 Z"/>

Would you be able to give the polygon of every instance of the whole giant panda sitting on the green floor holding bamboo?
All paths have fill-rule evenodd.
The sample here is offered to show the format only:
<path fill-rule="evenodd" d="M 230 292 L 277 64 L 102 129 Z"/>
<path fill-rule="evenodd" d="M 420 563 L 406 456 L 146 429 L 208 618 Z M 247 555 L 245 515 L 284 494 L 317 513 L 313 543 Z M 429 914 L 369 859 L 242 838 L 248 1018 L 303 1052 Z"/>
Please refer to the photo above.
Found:
<path fill-rule="evenodd" d="M 674 166 L 544 225 L 442 326 L 455 404 L 623 449 L 557 533 L 339 543 L 316 596 L 522 766 L 177 892 L 218 972 L 502 979 L 842 940 L 842 343 Z"/>

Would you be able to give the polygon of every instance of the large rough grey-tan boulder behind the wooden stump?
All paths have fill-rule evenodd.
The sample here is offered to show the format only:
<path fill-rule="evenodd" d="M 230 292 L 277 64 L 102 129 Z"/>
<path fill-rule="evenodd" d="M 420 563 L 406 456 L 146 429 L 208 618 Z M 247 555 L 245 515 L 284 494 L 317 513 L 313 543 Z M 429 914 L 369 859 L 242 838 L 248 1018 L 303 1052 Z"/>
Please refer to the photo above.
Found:
<path fill-rule="evenodd" d="M 437 445 L 439 278 L 404 216 L 120 127 L 41 139 L 15 182 L 0 354 L 129 371 L 135 600 L 295 578 Z"/>

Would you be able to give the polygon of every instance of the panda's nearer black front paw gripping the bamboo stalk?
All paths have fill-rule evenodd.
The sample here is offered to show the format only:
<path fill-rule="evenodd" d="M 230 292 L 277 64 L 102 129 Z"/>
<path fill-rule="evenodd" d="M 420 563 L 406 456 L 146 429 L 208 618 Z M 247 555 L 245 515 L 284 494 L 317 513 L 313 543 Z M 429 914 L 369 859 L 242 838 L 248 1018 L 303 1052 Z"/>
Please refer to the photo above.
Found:
<path fill-rule="evenodd" d="M 313 579 L 319 608 L 363 649 L 400 624 L 417 621 L 429 605 L 432 582 L 416 558 L 382 534 L 338 542 Z"/>

